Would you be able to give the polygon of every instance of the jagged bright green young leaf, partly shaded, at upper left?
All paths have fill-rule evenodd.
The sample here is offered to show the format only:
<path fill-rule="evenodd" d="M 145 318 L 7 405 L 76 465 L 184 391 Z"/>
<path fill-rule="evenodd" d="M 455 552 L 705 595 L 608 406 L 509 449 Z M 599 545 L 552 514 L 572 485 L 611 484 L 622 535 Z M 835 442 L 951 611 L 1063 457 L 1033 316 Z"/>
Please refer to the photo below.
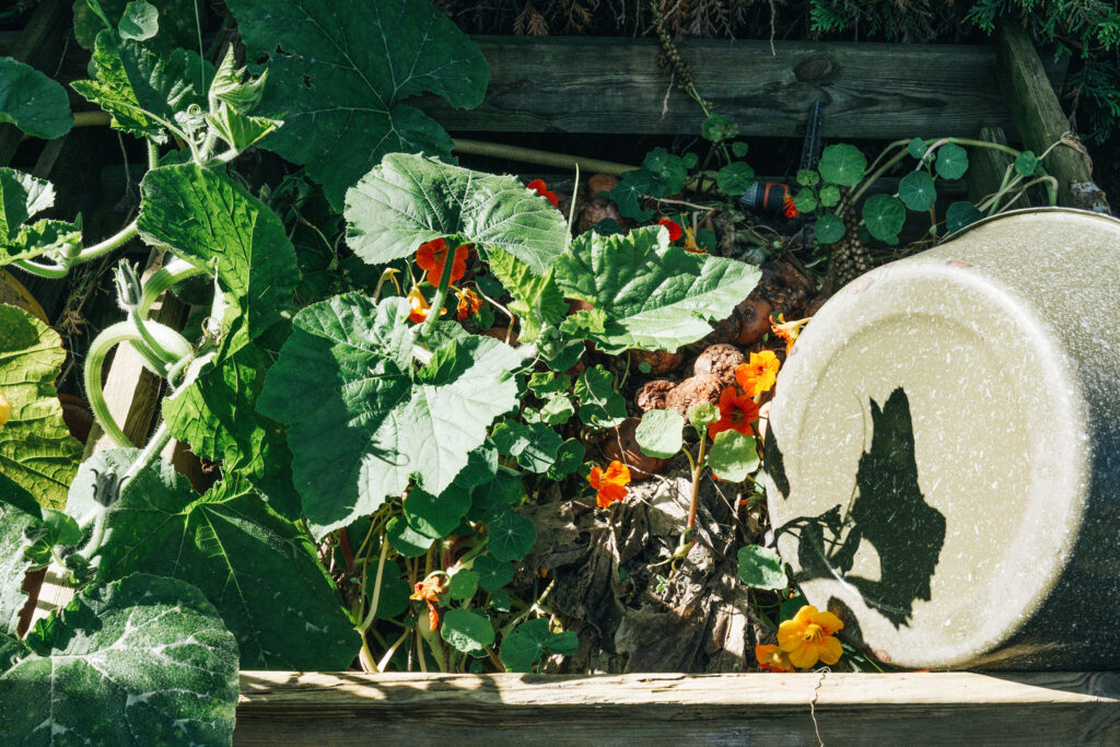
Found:
<path fill-rule="evenodd" d="M 165 123 L 192 116 L 192 106 L 206 111 L 214 77 L 214 66 L 194 52 L 157 54 L 109 29 L 97 35 L 92 69 L 93 80 L 75 81 L 74 90 L 109 112 L 114 129 L 157 142 L 167 140 Z"/>

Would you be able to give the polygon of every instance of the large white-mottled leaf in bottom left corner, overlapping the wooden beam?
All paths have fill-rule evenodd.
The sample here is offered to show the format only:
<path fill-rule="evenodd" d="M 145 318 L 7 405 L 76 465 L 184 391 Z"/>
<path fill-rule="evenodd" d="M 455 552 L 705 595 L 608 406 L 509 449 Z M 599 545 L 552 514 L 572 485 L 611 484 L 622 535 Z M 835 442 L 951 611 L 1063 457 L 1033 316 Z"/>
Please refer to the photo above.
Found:
<path fill-rule="evenodd" d="M 4 737 L 27 745 L 223 745 L 237 644 L 183 581 L 133 575 L 82 591 L 53 647 L 0 674 Z M 29 637 L 30 639 L 30 637 Z"/>

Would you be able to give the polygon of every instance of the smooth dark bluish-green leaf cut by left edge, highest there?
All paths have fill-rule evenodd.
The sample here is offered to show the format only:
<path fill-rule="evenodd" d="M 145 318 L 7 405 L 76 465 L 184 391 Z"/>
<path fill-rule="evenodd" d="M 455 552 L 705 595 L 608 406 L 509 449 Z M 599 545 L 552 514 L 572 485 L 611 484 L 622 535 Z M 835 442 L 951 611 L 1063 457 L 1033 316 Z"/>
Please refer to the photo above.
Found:
<path fill-rule="evenodd" d="M 32 138 L 54 140 L 74 127 L 66 88 L 30 65 L 0 57 L 0 122 Z"/>

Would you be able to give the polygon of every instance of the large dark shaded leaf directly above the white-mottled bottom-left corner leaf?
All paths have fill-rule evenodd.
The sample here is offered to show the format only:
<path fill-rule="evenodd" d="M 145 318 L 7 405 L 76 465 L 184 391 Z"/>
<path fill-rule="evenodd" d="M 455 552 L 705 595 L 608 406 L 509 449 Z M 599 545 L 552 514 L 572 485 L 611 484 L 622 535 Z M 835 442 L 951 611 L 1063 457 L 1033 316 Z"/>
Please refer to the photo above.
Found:
<path fill-rule="evenodd" d="M 93 475 L 122 473 L 137 451 L 102 451 L 82 465 L 72 515 L 94 507 Z M 315 543 L 226 478 L 199 496 L 167 463 L 142 469 L 109 510 L 97 573 L 132 572 L 194 583 L 217 607 L 245 669 L 343 670 L 361 646 Z"/>

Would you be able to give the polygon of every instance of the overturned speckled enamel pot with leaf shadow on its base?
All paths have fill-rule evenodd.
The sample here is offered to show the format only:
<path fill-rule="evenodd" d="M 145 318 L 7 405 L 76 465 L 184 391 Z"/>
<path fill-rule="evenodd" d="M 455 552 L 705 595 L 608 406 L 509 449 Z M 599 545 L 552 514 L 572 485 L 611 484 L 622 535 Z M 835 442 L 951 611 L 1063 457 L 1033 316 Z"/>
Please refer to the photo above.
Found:
<path fill-rule="evenodd" d="M 1120 221 L 980 222 L 838 292 L 777 380 L 776 542 L 921 669 L 1120 666 Z"/>

